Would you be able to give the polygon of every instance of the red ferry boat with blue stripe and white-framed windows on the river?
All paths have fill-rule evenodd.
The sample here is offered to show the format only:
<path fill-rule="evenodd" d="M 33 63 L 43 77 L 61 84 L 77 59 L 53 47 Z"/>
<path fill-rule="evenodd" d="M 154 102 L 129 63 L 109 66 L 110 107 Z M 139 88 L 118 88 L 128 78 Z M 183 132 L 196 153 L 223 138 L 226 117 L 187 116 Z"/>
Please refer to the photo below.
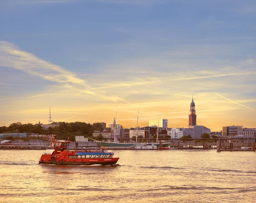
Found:
<path fill-rule="evenodd" d="M 105 149 L 84 149 L 67 150 L 70 141 L 56 142 L 54 136 L 51 136 L 51 149 L 47 149 L 39 159 L 41 164 L 57 165 L 113 165 L 119 158 L 113 158 L 114 153 Z"/>

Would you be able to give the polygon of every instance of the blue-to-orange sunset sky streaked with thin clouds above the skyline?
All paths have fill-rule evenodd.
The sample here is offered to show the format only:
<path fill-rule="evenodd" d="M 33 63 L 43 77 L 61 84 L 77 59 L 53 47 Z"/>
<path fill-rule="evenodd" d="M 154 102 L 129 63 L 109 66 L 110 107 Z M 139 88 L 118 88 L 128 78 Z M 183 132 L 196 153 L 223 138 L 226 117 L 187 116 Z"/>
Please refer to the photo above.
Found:
<path fill-rule="evenodd" d="M 255 0 L 1 0 L 0 126 L 256 128 Z"/>

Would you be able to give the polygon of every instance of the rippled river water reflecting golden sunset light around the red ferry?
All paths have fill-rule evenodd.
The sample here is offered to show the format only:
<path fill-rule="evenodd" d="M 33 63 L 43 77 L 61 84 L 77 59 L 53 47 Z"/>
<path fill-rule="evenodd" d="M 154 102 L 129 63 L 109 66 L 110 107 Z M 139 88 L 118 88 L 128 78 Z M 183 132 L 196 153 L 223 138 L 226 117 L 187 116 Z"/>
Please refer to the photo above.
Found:
<path fill-rule="evenodd" d="M 0 202 L 256 202 L 255 152 L 119 151 L 113 166 L 41 165 L 42 153 L 0 151 Z"/>

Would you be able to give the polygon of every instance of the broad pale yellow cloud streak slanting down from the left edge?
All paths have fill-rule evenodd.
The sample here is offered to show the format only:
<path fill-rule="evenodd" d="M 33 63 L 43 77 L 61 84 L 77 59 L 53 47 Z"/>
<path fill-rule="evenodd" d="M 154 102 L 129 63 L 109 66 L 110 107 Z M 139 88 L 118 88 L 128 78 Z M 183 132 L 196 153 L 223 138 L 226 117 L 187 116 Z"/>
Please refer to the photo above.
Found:
<path fill-rule="evenodd" d="M 67 88 L 76 90 L 82 93 L 98 96 L 102 99 L 118 101 L 118 97 L 108 97 L 101 93 L 88 90 L 90 85 L 75 73 L 65 70 L 63 67 L 44 61 L 35 55 L 20 50 L 14 44 L 6 41 L 0 41 L 0 66 L 11 67 L 21 70 L 30 75 L 35 75 L 47 81 L 52 81 L 62 84 Z M 122 100 L 122 99 L 121 99 Z"/>

